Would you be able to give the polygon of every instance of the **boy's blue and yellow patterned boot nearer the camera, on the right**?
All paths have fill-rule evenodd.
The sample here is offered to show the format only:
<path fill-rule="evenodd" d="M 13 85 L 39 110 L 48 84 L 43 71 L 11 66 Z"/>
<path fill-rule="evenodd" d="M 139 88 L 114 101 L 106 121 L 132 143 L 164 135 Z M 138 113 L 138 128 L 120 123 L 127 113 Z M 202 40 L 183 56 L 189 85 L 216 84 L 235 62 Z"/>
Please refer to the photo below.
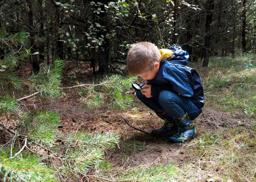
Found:
<path fill-rule="evenodd" d="M 175 124 L 178 127 L 178 133 L 169 138 L 170 142 L 187 142 L 196 136 L 195 127 L 192 125 L 188 114 L 185 114 L 182 118 L 175 119 Z"/>

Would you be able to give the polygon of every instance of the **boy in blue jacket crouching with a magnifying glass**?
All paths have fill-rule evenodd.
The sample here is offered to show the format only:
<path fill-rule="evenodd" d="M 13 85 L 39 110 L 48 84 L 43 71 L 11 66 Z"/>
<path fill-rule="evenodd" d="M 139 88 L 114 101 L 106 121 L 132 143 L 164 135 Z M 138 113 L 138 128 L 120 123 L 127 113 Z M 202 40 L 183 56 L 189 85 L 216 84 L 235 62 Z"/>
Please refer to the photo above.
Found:
<path fill-rule="evenodd" d="M 151 134 L 169 135 L 174 143 L 196 135 L 191 123 L 202 112 L 204 94 L 198 73 L 187 66 L 189 55 L 179 46 L 158 49 L 150 42 L 132 44 L 127 55 L 127 70 L 148 81 L 136 95 L 165 121 Z"/>

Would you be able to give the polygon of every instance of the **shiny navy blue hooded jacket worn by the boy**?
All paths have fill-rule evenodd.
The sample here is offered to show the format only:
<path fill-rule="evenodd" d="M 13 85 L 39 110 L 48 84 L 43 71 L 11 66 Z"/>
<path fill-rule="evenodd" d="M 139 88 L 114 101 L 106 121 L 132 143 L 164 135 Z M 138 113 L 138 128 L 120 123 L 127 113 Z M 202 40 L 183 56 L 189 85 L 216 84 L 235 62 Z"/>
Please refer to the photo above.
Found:
<path fill-rule="evenodd" d="M 204 106 L 204 92 L 200 76 L 193 68 L 186 66 L 189 54 L 180 46 L 171 46 L 173 55 L 160 61 L 156 77 L 148 80 L 151 95 L 158 96 L 162 90 L 170 90 L 188 97 L 197 107 Z"/>

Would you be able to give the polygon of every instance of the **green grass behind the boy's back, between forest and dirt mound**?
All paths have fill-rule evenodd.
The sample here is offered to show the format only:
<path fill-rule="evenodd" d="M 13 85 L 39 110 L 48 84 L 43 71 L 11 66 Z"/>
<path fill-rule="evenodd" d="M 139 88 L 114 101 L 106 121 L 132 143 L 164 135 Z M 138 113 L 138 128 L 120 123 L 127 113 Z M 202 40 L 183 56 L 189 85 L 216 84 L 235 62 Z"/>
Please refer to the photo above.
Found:
<path fill-rule="evenodd" d="M 253 58 L 252 55 L 214 57 L 209 61 L 209 69 L 199 70 L 206 105 L 255 117 L 256 61 Z"/>

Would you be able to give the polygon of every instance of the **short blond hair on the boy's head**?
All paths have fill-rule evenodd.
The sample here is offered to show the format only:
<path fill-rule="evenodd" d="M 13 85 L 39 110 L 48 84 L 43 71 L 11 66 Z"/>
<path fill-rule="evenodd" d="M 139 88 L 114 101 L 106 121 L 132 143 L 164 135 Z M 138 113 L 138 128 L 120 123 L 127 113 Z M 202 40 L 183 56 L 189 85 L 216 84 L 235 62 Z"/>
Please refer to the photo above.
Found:
<path fill-rule="evenodd" d="M 154 63 L 159 62 L 161 53 L 155 44 L 139 42 L 132 44 L 127 55 L 126 69 L 131 75 L 139 75 L 153 69 Z"/>

